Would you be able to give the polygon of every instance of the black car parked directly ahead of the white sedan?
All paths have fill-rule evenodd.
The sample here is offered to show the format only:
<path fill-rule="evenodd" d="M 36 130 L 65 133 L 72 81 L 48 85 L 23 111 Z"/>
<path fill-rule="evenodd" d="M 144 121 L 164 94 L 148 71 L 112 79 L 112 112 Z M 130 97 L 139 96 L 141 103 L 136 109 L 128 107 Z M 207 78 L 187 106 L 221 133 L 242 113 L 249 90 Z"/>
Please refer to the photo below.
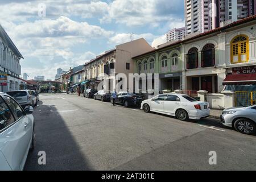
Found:
<path fill-rule="evenodd" d="M 110 102 L 113 103 L 113 98 L 110 98 Z M 134 93 L 119 92 L 117 98 L 115 98 L 115 103 L 122 104 L 125 107 L 129 106 L 139 106 L 142 102 L 142 96 L 138 96 Z"/>

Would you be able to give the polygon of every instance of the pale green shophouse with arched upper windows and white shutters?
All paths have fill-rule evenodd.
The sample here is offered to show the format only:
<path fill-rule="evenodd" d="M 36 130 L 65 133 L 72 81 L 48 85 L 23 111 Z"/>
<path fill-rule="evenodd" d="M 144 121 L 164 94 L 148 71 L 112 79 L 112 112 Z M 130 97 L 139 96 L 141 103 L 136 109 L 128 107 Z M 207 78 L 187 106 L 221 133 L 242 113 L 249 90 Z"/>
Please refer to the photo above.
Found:
<path fill-rule="evenodd" d="M 160 92 L 167 89 L 172 91 L 181 89 L 183 63 L 179 43 L 133 57 L 133 60 L 135 73 L 139 75 L 141 73 L 159 74 Z M 154 89 L 153 85 L 155 85 L 154 79 L 152 89 Z M 142 81 L 139 82 L 139 89 L 142 89 Z"/>

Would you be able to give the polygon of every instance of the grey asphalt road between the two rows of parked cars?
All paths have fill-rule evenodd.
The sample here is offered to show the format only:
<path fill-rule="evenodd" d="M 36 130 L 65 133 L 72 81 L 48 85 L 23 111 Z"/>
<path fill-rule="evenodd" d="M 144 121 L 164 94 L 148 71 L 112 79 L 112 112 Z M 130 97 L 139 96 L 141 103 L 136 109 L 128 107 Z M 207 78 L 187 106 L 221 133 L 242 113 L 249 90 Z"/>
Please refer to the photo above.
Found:
<path fill-rule="evenodd" d="M 25 170 L 255 170 L 256 136 L 216 119 L 179 121 L 67 94 L 41 94 Z M 210 127 L 210 128 L 209 128 Z M 46 152 L 46 165 L 38 152 Z M 209 164 L 216 151 L 217 164 Z"/>

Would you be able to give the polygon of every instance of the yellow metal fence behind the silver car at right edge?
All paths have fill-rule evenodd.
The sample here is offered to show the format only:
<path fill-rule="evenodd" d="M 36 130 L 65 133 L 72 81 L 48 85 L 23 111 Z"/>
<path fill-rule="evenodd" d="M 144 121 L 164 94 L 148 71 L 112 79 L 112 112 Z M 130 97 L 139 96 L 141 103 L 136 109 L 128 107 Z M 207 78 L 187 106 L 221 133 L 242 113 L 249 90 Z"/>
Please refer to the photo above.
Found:
<path fill-rule="evenodd" d="M 251 106 L 256 104 L 256 92 L 236 92 L 236 106 Z"/>

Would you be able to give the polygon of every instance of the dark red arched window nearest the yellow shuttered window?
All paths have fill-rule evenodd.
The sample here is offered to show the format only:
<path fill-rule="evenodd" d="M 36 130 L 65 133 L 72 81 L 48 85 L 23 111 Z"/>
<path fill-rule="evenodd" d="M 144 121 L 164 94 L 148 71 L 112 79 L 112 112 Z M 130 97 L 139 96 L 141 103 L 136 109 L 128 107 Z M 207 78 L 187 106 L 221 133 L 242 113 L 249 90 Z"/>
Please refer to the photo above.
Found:
<path fill-rule="evenodd" d="M 215 50 L 213 44 L 204 46 L 201 54 L 201 67 L 213 67 L 215 64 Z"/>

